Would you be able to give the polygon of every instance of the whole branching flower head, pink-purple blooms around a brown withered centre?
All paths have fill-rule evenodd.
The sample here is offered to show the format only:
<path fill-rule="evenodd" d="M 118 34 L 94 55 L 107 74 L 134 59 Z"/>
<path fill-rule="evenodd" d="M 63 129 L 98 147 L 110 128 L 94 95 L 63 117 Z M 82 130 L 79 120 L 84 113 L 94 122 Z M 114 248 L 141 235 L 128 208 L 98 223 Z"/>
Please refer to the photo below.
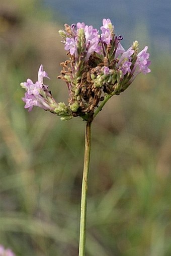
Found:
<path fill-rule="evenodd" d="M 22 83 L 26 89 L 23 101 L 25 108 L 39 106 L 61 116 L 62 120 L 80 116 L 83 120 L 93 119 L 99 109 L 113 95 L 125 91 L 139 73 L 150 72 L 147 46 L 138 53 L 138 42 L 125 50 L 122 36 L 116 36 L 110 19 L 103 19 L 101 34 L 93 26 L 84 23 L 65 24 L 59 34 L 69 60 L 62 62 L 63 70 L 58 78 L 65 81 L 69 92 L 68 106 L 57 104 L 43 78 L 48 77 L 42 65 L 38 81 Z"/>

